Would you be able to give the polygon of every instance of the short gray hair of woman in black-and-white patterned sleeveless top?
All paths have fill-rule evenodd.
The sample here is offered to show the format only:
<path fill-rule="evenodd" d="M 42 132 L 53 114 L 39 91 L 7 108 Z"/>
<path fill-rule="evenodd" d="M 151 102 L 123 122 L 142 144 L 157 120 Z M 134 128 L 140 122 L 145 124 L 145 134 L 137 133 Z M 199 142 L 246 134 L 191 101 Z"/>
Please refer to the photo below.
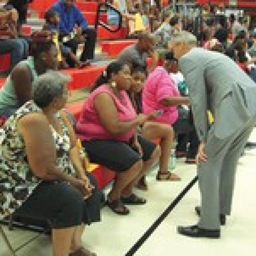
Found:
<path fill-rule="evenodd" d="M 65 92 L 65 85 L 71 77 L 59 71 L 48 71 L 32 84 L 31 99 L 39 108 L 46 108 L 54 98 Z"/>

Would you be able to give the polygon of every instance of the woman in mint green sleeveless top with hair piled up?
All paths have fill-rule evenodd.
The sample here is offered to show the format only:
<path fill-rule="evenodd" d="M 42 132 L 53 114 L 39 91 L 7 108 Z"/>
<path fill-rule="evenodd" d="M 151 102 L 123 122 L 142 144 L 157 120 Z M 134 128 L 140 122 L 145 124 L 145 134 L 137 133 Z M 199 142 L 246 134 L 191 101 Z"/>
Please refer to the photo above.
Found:
<path fill-rule="evenodd" d="M 49 37 L 48 37 L 49 36 Z M 0 90 L 0 116 L 9 117 L 30 100 L 32 84 L 47 70 L 57 70 L 57 49 L 47 32 L 32 35 L 31 55 L 18 63 Z"/>

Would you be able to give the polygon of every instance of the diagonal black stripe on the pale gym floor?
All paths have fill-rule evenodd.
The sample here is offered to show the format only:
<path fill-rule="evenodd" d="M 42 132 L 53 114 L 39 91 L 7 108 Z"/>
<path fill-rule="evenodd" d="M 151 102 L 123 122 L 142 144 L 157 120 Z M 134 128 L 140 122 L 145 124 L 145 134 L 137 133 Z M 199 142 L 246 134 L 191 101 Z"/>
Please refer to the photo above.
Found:
<path fill-rule="evenodd" d="M 141 236 L 141 238 L 131 247 L 131 249 L 125 254 L 125 256 L 131 256 L 138 251 L 143 243 L 151 236 L 161 222 L 170 214 L 170 212 L 176 207 L 181 199 L 187 194 L 187 192 L 195 185 L 198 180 L 198 176 L 192 179 L 189 184 L 179 193 L 179 195 L 170 203 L 170 205 L 164 210 L 164 212 L 157 218 L 157 220 L 148 228 L 148 230 Z"/>

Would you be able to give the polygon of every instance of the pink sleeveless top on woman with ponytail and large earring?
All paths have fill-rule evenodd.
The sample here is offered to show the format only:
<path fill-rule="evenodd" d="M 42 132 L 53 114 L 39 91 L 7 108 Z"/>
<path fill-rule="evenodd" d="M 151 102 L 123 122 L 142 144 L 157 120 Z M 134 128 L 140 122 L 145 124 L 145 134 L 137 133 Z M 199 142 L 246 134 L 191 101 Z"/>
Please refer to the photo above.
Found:
<path fill-rule="evenodd" d="M 129 141 L 135 133 L 134 129 L 131 129 L 130 131 L 127 131 L 121 135 L 114 136 L 111 135 L 101 124 L 98 112 L 94 107 L 94 99 L 100 93 L 108 93 L 111 96 L 117 108 L 119 121 L 131 121 L 136 118 L 136 112 L 125 91 L 121 92 L 120 97 L 117 97 L 113 94 L 113 92 L 110 91 L 107 85 L 102 85 L 94 90 L 84 102 L 82 112 L 76 126 L 78 137 L 82 141 L 90 139 L 114 139 L 117 141 Z M 108 106 L 106 106 L 106 108 L 107 107 Z"/>

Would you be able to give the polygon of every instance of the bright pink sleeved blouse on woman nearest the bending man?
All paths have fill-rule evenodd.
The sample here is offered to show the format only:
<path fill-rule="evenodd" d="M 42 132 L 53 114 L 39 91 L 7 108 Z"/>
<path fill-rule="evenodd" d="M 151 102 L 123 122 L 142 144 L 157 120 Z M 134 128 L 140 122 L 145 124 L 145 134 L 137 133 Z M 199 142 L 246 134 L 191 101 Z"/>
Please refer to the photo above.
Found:
<path fill-rule="evenodd" d="M 178 118 L 176 106 L 164 106 L 161 100 L 167 97 L 179 96 L 174 81 L 163 67 L 157 67 L 149 74 L 142 92 L 143 113 L 148 114 L 155 110 L 163 110 L 164 113 L 152 121 L 174 124 Z"/>

